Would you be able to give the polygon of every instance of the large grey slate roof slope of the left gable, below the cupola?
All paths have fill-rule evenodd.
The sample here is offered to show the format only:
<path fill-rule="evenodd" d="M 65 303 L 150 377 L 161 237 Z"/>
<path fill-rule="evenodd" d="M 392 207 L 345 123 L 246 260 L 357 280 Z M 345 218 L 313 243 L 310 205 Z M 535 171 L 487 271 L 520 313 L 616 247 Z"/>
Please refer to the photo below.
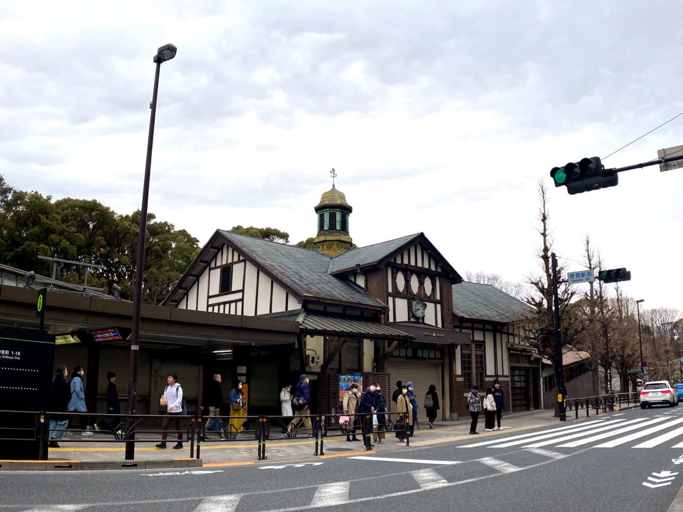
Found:
<path fill-rule="evenodd" d="M 319 251 L 238 235 L 222 229 L 218 232 L 247 258 L 266 268 L 304 298 L 339 300 L 371 307 L 385 305 L 348 279 L 339 279 L 329 274 L 330 257 Z"/>

